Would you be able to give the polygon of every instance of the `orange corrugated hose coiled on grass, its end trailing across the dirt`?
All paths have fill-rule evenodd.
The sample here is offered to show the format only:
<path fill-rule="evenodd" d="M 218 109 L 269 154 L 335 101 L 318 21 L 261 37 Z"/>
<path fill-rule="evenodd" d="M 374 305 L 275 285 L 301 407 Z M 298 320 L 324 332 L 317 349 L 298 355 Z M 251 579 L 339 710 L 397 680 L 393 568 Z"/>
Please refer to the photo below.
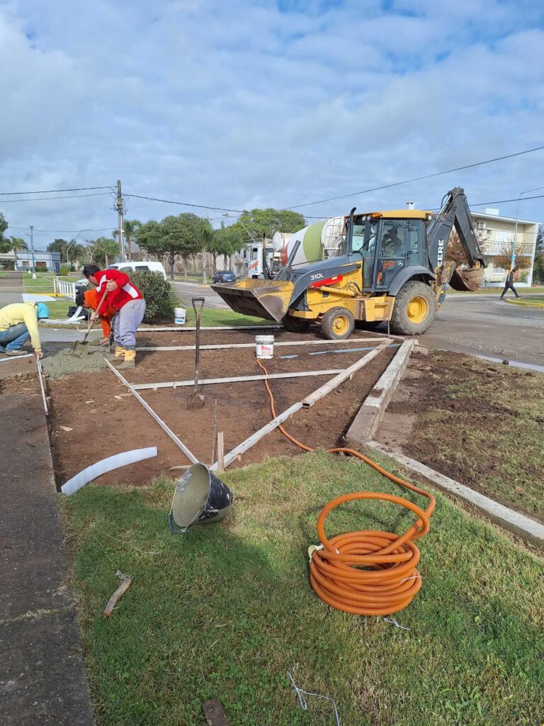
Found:
<path fill-rule="evenodd" d="M 257 359 L 257 363 L 268 375 L 268 371 Z M 274 397 L 268 380 L 266 390 L 270 396 L 271 411 L 276 418 Z M 307 452 L 316 451 L 291 436 L 283 426 L 281 433 Z M 429 517 L 436 504 L 434 497 L 424 489 L 389 473 L 379 464 L 354 449 L 337 447 L 326 449 L 331 454 L 348 454 L 365 462 L 395 484 L 400 484 L 411 492 L 429 499 L 426 510 L 408 502 L 408 499 L 382 492 L 354 492 L 342 494 L 332 499 L 321 510 L 317 521 L 319 539 L 323 547 L 315 550 L 310 558 L 310 583 L 316 594 L 327 605 L 353 615 L 384 616 L 397 613 L 410 605 L 413 597 L 421 589 L 421 576 L 417 571 L 419 549 L 415 539 L 429 531 Z M 356 499 L 381 499 L 411 510 L 417 521 L 404 534 L 382 531 L 358 531 L 338 534 L 327 539 L 325 534 L 326 516 L 345 502 Z"/>

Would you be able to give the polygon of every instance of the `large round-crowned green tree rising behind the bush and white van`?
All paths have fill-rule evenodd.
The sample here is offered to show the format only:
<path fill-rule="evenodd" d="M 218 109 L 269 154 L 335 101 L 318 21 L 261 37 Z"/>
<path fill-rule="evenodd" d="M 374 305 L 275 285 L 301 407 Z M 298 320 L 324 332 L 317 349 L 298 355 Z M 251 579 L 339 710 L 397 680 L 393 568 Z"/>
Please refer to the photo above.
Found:
<path fill-rule="evenodd" d="M 208 223 L 209 224 L 209 223 Z M 160 223 L 149 220 L 136 229 L 136 242 L 142 249 L 162 258 L 168 255 L 170 279 L 174 279 L 176 255 L 184 261 L 202 248 L 202 219 L 191 212 L 170 215 Z"/>

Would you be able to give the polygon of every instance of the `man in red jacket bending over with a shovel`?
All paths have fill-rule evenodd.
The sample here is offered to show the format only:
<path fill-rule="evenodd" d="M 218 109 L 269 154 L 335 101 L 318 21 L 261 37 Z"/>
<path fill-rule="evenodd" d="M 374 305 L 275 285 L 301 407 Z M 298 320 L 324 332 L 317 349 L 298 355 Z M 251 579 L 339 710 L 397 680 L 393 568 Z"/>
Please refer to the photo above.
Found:
<path fill-rule="evenodd" d="M 96 287 L 96 295 L 102 300 L 104 290 L 107 290 L 106 299 L 102 306 L 110 305 L 115 310 L 113 319 L 113 338 L 115 340 L 115 354 L 111 356 L 120 364 L 118 370 L 133 368 L 136 365 L 136 330 L 144 319 L 146 302 L 136 285 L 125 272 L 116 269 L 100 270 L 96 265 L 83 267 L 83 274 L 91 285 Z M 96 320 L 102 314 L 99 305 L 91 315 Z"/>

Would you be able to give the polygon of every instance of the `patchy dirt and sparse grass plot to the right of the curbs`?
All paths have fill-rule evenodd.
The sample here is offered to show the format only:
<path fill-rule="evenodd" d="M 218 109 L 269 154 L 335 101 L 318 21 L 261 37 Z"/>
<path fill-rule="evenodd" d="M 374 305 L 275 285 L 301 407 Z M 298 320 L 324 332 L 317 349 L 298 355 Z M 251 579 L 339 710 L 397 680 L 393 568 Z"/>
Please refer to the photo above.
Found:
<path fill-rule="evenodd" d="M 414 351 L 376 440 L 544 520 L 544 376 Z"/>

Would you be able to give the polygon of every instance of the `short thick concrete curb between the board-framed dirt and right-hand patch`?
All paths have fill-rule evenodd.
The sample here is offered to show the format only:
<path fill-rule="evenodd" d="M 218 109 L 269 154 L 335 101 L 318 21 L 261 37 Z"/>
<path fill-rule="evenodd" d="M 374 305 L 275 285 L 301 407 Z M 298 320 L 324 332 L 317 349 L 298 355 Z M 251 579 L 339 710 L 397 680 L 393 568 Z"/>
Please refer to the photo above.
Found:
<path fill-rule="evenodd" d="M 405 340 L 400 346 L 395 357 L 392 359 L 376 386 L 368 393 L 363 401 L 358 414 L 347 430 L 346 443 L 350 446 L 366 444 L 374 437 L 385 411 L 392 398 L 395 388 L 403 376 L 408 359 L 415 346 L 414 340 Z"/>

